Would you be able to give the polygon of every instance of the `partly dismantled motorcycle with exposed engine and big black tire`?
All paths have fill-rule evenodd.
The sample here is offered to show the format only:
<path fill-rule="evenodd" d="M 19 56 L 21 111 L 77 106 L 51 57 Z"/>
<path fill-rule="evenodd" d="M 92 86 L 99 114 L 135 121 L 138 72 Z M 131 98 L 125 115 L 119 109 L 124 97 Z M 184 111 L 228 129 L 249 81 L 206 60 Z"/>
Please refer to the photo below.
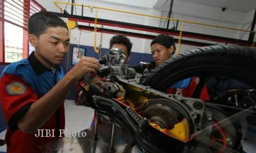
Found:
<path fill-rule="evenodd" d="M 255 58 L 253 47 L 214 45 L 187 50 L 150 70 L 147 63 L 139 68 L 124 64 L 121 50 L 112 48 L 100 59 L 99 72 L 85 75 L 79 86 L 84 105 L 120 125 L 142 152 L 242 152 L 246 118 L 254 115 L 255 103 L 253 98 L 238 102 L 230 97 L 255 93 Z M 183 96 L 182 89 L 166 93 L 193 77 L 199 80 L 190 97 Z M 216 94 L 216 82 L 207 84 L 219 78 L 249 88 Z M 200 99 L 205 86 L 208 100 Z"/>

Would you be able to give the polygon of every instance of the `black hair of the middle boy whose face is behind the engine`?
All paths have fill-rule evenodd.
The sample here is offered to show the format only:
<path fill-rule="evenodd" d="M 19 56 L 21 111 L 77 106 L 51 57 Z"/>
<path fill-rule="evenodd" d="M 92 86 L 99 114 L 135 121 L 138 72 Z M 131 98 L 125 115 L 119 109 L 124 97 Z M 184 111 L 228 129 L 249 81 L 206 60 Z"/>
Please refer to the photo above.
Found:
<path fill-rule="evenodd" d="M 127 48 L 127 54 L 128 57 L 131 54 L 131 50 L 133 47 L 133 43 L 130 41 L 130 39 L 124 35 L 115 35 L 110 39 L 110 48 L 113 47 L 114 44 L 123 44 Z"/>

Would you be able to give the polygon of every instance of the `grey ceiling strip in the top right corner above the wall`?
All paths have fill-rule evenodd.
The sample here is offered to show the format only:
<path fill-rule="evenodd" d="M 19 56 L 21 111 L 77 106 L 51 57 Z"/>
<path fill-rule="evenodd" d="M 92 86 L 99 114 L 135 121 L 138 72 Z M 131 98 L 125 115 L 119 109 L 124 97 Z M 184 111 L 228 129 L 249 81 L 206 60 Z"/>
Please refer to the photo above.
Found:
<path fill-rule="evenodd" d="M 161 1 L 161 0 L 160 0 Z M 256 8 L 256 0 L 179 0 L 190 3 L 197 3 L 207 6 L 214 6 L 226 9 L 239 11 L 239 12 L 249 12 Z"/>

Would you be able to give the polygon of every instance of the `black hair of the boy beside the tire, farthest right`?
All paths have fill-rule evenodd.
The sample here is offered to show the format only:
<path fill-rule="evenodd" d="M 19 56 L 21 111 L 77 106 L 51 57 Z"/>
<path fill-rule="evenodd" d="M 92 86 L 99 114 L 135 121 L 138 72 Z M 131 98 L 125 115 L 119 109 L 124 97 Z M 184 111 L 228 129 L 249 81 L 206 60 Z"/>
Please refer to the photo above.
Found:
<path fill-rule="evenodd" d="M 169 48 L 171 46 L 174 46 L 174 52 L 172 53 L 172 55 L 174 55 L 175 53 L 175 50 L 176 50 L 176 47 L 175 47 L 175 43 L 174 43 L 174 39 L 173 37 L 169 36 L 169 35 L 164 35 L 164 34 L 161 34 L 161 35 L 158 35 L 152 42 L 151 42 L 151 46 L 153 44 L 160 44 L 160 45 L 163 45 L 165 46 L 166 48 Z"/>

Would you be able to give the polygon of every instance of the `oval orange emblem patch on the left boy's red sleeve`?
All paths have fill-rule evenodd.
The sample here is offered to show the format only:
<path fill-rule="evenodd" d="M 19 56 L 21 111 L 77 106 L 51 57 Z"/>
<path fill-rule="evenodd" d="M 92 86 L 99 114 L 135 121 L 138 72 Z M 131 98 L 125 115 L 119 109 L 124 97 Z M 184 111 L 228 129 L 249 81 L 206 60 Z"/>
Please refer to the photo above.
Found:
<path fill-rule="evenodd" d="M 27 87 L 19 82 L 13 82 L 6 87 L 6 91 L 10 95 L 20 95 L 25 93 Z"/>

